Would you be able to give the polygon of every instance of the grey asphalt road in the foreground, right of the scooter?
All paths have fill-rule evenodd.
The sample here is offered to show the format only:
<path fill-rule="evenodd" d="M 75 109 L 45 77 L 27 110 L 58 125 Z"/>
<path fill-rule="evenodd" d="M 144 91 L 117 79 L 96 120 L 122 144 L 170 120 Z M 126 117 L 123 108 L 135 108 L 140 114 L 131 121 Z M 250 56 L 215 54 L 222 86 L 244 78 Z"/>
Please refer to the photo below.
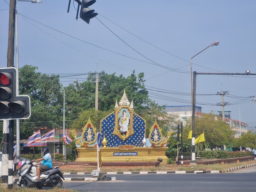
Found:
<path fill-rule="evenodd" d="M 250 167 L 252 168 L 252 167 Z M 246 169 L 244 169 L 245 171 Z M 189 192 L 255 192 L 256 169 L 249 172 L 218 174 L 145 174 L 107 175 L 116 181 L 64 182 L 63 187 L 78 191 L 130 192 L 130 191 L 189 191 Z M 233 174 L 236 173 L 236 174 Z"/>

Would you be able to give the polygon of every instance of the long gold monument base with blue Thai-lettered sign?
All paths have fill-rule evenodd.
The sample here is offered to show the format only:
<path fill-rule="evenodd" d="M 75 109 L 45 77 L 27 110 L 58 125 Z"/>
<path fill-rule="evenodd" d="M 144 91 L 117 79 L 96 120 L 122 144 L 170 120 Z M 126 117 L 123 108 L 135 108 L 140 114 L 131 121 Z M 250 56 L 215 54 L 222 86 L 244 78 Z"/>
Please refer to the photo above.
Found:
<path fill-rule="evenodd" d="M 101 148 L 102 161 L 105 162 L 132 162 L 132 161 L 157 161 L 158 158 L 166 161 L 165 151 L 168 147 L 152 148 L 137 147 L 123 150 L 119 148 Z M 77 148 L 78 158 L 76 162 L 97 162 L 97 149 Z"/>

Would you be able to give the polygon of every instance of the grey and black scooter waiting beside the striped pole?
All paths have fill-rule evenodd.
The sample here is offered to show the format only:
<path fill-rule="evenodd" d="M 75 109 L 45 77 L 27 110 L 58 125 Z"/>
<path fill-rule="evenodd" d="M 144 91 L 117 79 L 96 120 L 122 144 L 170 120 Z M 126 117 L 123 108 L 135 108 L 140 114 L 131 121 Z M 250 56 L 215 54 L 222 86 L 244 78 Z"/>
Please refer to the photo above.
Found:
<path fill-rule="evenodd" d="M 18 171 L 19 177 L 14 180 L 16 186 L 19 187 L 61 187 L 62 179 L 64 179 L 63 174 L 61 173 L 60 166 L 53 167 L 45 172 L 40 174 L 40 182 L 35 182 L 37 179 L 37 174 L 32 170 L 32 162 L 26 160 L 22 164 Z"/>

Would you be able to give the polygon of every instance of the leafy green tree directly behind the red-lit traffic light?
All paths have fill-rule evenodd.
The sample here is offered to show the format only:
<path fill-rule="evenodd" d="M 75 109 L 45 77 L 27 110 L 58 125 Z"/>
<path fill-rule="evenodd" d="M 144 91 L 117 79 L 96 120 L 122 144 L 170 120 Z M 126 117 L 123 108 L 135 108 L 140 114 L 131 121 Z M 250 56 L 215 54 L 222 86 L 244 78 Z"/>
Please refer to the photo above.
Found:
<path fill-rule="evenodd" d="M 40 127 L 55 128 L 62 125 L 62 85 L 59 76 L 36 72 L 38 68 L 25 65 L 19 69 L 20 95 L 31 100 L 31 116 L 20 121 L 21 137 L 28 138 Z"/>

